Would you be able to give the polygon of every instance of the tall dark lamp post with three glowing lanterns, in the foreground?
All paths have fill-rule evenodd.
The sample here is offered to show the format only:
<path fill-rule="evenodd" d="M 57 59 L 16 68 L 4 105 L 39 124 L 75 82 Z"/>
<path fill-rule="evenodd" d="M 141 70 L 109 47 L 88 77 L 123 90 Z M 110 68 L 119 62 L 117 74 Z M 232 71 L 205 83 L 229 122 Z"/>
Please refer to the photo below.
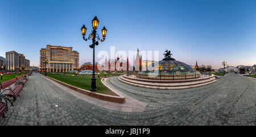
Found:
<path fill-rule="evenodd" d="M 88 38 L 85 38 L 85 34 L 86 34 L 86 30 L 87 28 L 85 27 L 85 25 L 82 25 L 81 28 L 81 32 L 82 32 L 82 38 L 84 38 L 85 41 L 92 39 L 92 45 L 90 45 L 89 47 L 93 49 L 93 76 L 92 76 L 92 85 L 90 88 L 90 91 L 97 91 L 96 88 L 96 76 L 95 76 L 95 46 L 98 45 L 98 41 L 103 42 L 105 40 L 106 37 L 106 32 L 107 29 L 105 28 L 105 26 L 101 29 L 101 33 L 102 33 L 102 39 L 100 39 L 100 36 L 97 34 L 96 29 L 98 28 L 98 18 L 97 16 L 94 17 L 94 19 L 92 20 L 92 27 L 93 27 L 93 31 L 92 33 L 89 34 Z"/>

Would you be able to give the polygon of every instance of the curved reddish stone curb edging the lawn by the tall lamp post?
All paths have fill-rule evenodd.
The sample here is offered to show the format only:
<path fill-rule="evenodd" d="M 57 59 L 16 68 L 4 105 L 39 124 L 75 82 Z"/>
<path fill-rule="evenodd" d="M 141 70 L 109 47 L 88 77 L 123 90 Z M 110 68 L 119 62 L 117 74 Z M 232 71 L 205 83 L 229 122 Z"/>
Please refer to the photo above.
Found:
<path fill-rule="evenodd" d="M 48 76 L 46 76 L 46 78 L 51 79 L 51 80 L 53 80 L 53 81 L 55 81 L 55 82 L 57 82 L 57 83 L 59 83 L 61 85 L 64 85 L 67 88 L 70 88 L 70 89 L 72 89 L 72 90 L 74 90 L 76 92 L 82 93 L 82 94 L 84 94 L 86 96 L 90 96 L 90 97 L 94 97 L 96 99 L 110 101 L 110 102 L 117 102 L 117 103 L 121 103 L 121 104 L 125 103 L 125 97 L 119 96 L 118 94 L 117 94 L 118 96 L 104 95 L 104 94 L 101 94 L 101 93 L 91 92 L 91 91 L 87 91 L 85 89 L 77 88 L 77 87 L 75 87 L 73 85 L 69 85 L 67 83 L 60 82 L 59 80 L 50 78 Z"/>

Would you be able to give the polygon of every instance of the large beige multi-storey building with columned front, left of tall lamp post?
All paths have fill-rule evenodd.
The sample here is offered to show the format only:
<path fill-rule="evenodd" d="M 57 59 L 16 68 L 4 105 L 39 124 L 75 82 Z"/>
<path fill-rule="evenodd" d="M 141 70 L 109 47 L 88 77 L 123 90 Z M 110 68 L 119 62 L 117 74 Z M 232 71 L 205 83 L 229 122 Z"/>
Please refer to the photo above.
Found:
<path fill-rule="evenodd" d="M 66 72 L 79 70 L 79 52 L 72 47 L 47 45 L 40 50 L 40 71 Z M 48 63 L 43 61 L 47 59 Z"/>

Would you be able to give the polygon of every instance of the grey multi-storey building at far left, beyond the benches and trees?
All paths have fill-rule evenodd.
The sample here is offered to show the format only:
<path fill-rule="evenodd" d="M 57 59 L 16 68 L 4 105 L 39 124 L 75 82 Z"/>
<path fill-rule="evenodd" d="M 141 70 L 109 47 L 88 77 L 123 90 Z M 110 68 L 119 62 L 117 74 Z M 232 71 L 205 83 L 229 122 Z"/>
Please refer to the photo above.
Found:
<path fill-rule="evenodd" d="M 26 59 L 23 54 L 15 51 L 6 52 L 6 70 L 7 71 L 26 71 L 30 70 L 30 60 Z"/>

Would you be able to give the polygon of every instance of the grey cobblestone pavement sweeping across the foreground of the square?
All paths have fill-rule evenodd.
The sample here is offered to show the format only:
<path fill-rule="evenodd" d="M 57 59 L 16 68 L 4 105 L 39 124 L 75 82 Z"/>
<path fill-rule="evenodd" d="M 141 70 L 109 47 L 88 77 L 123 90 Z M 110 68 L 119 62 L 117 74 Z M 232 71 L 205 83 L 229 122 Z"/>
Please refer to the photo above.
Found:
<path fill-rule="evenodd" d="M 144 112 L 101 108 L 32 74 L 0 125 L 255 125 L 256 79 L 230 73 L 203 87 L 154 90 L 108 80 L 112 88 L 147 102 Z M 55 106 L 57 105 L 57 106 Z"/>

